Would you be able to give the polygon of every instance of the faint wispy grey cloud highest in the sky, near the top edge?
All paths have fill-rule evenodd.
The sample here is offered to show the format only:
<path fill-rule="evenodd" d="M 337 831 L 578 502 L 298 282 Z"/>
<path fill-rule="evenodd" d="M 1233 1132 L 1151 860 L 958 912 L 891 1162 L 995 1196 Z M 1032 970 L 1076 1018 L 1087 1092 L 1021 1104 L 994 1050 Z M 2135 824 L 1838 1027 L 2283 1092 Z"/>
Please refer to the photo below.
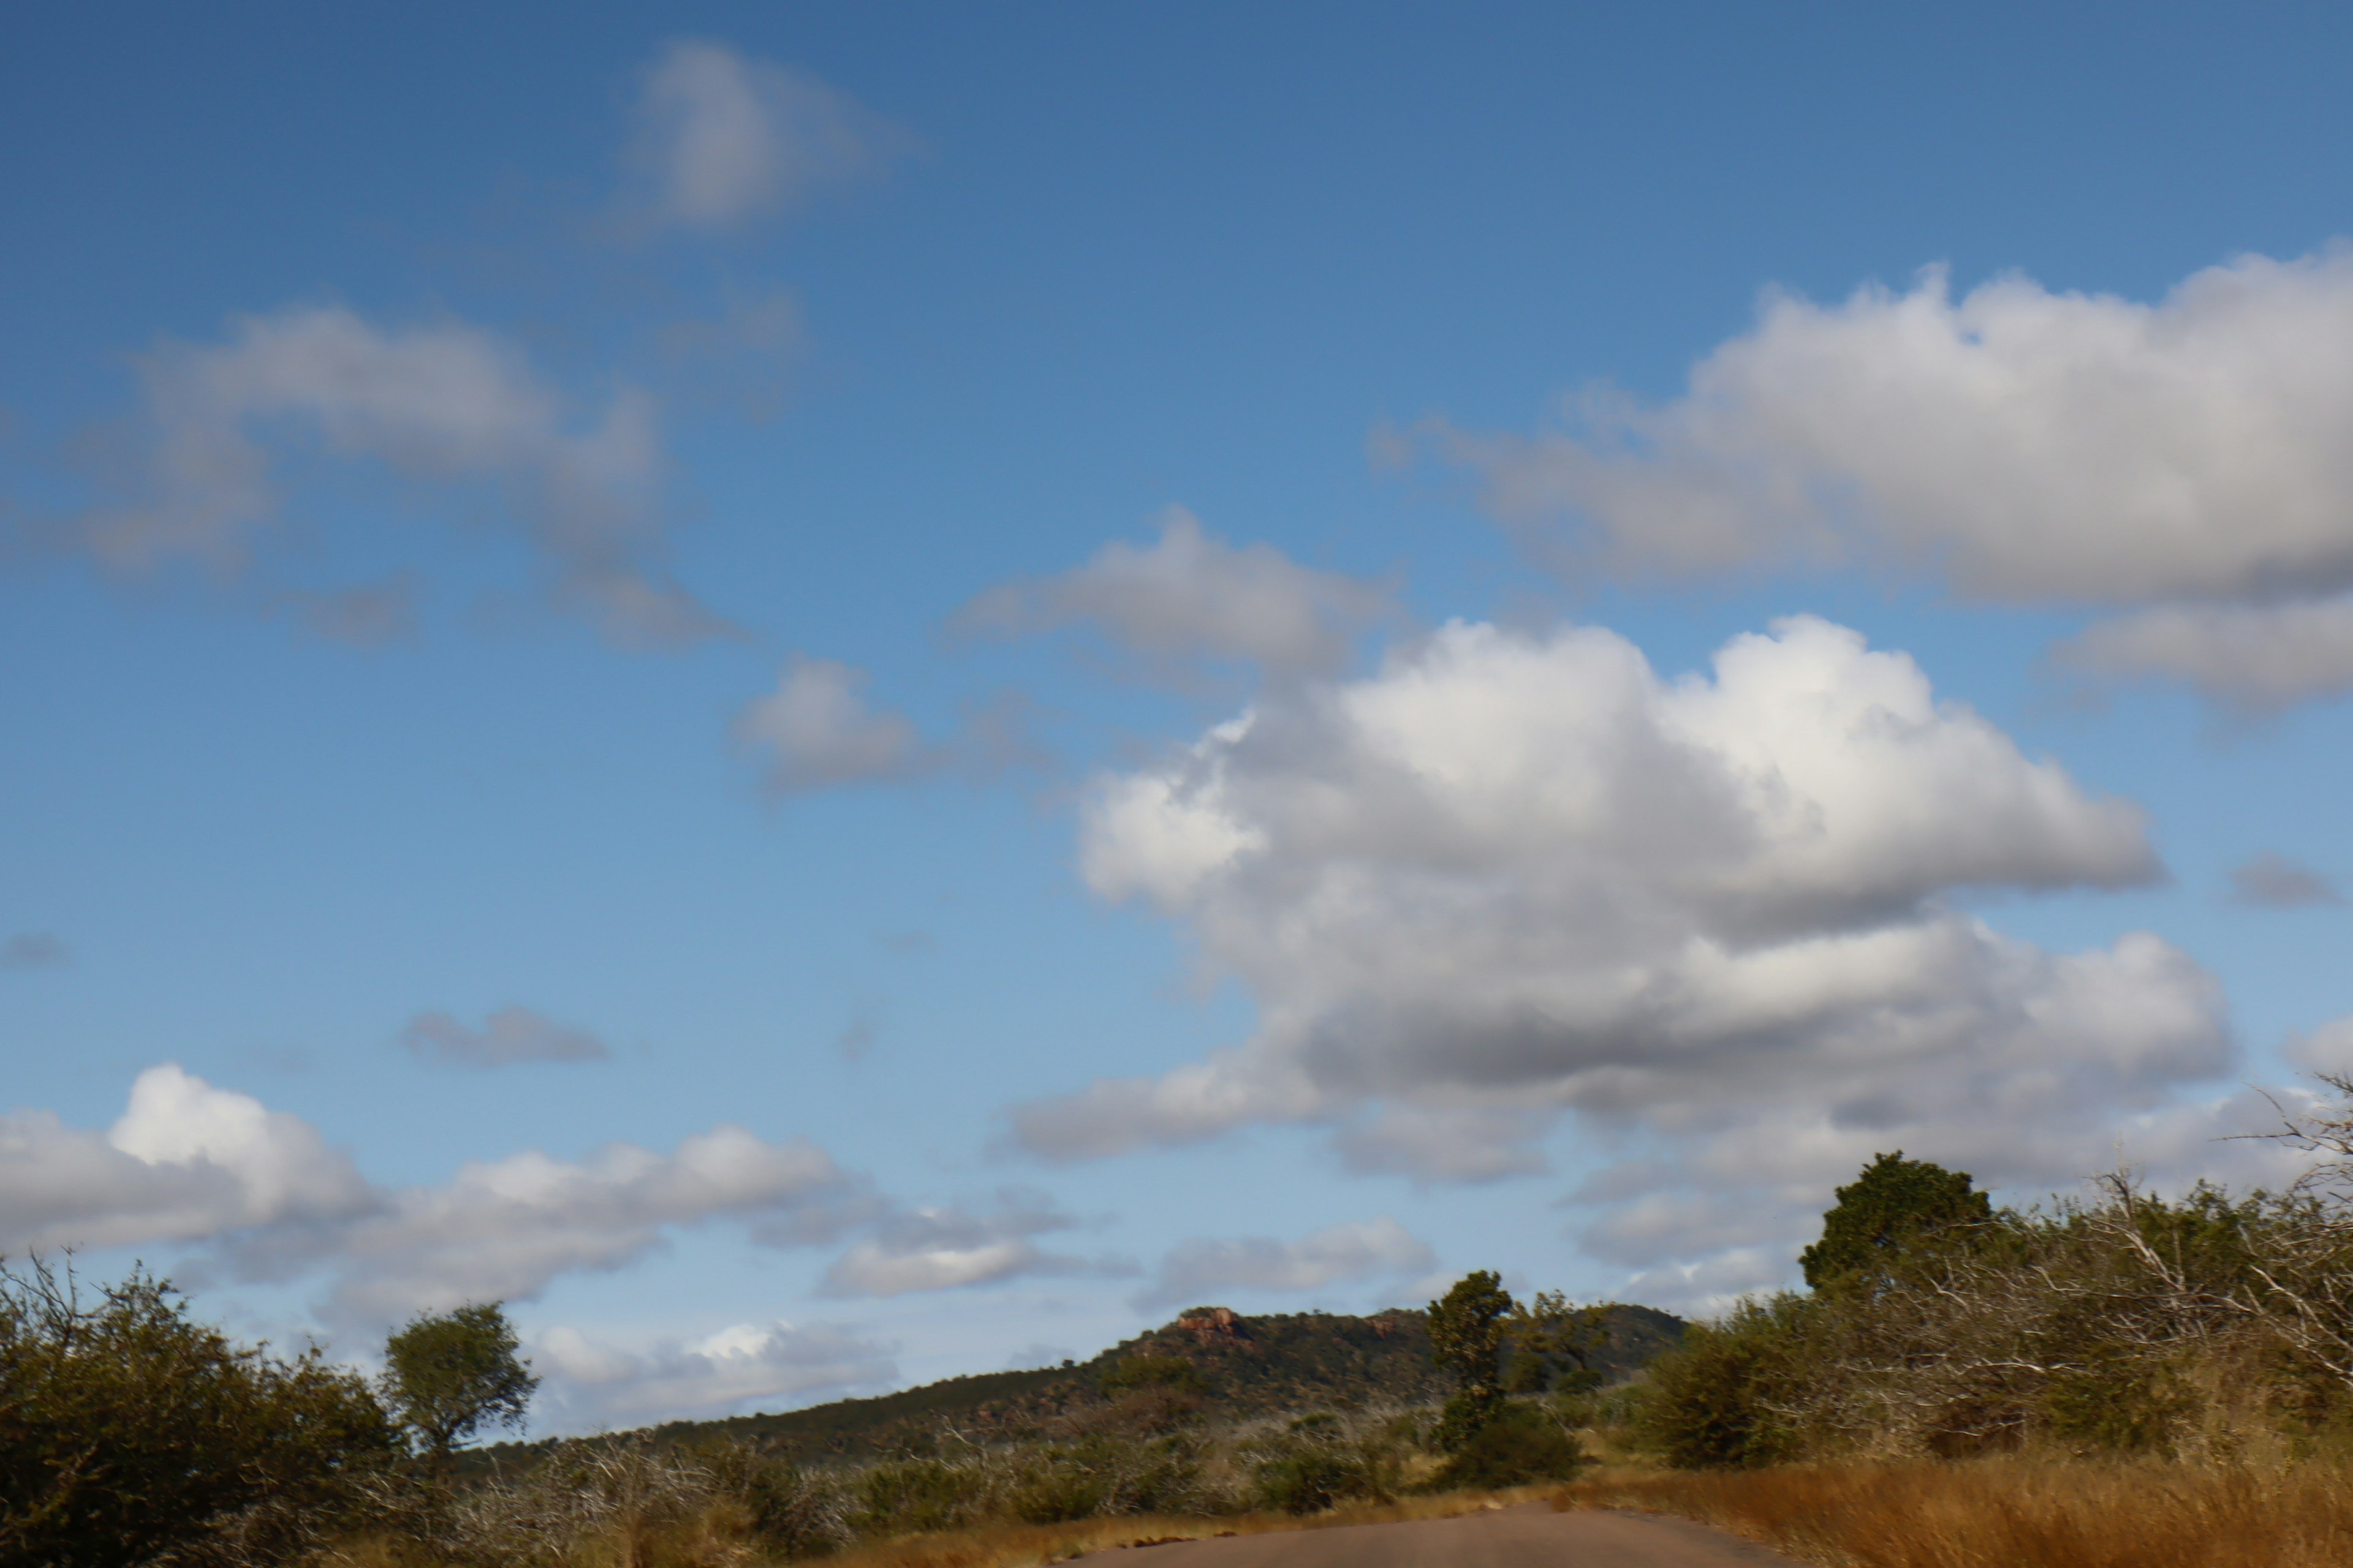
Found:
<path fill-rule="evenodd" d="M 642 221 L 727 228 L 868 174 L 908 136 L 814 75 L 711 40 L 671 42 L 645 73 L 628 162 Z"/>

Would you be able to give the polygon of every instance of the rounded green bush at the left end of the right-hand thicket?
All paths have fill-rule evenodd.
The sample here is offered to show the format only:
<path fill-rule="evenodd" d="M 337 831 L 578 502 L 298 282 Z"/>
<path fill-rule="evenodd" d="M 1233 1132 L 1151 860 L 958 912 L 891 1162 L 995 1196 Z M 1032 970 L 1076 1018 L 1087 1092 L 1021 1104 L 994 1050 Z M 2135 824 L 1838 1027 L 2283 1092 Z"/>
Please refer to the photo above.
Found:
<path fill-rule="evenodd" d="M 1642 1436 L 1678 1469 L 1729 1469 L 1793 1458 L 1795 1434 L 1772 1408 L 1807 1302 L 1744 1302 L 1722 1324 L 1694 1324 L 1649 1368 Z"/>

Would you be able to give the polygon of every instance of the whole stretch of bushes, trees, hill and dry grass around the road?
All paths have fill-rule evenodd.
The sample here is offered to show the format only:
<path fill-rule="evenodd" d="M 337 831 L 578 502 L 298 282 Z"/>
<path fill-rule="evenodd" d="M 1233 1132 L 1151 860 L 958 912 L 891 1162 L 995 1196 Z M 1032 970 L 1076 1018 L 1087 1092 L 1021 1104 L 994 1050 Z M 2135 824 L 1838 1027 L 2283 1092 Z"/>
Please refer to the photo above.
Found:
<path fill-rule="evenodd" d="M 1428 1312 L 1195 1309 L 1085 1368 L 487 1450 L 532 1394 L 496 1307 L 412 1321 L 365 1380 L 35 1262 L 0 1291 L 0 1561 L 995 1568 L 1544 1495 L 1824 1566 L 2348 1563 L 2353 1084 L 2327 1086 L 2285 1192 L 2120 1173 L 2002 1211 L 1882 1154 L 1807 1291 L 1687 1331 L 1480 1272 Z"/>

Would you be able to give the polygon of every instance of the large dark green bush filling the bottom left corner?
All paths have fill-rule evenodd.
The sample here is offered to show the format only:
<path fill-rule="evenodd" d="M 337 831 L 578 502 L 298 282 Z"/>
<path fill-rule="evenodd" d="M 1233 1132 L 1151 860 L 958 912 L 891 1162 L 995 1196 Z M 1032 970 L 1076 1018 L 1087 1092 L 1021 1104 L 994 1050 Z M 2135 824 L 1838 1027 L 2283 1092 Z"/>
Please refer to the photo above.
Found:
<path fill-rule="evenodd" d="M 231 1345 L 165 1281 L 0 1272 L 0 1563 L 289 1554 L 395 1455 L 362 1380 Z"/>

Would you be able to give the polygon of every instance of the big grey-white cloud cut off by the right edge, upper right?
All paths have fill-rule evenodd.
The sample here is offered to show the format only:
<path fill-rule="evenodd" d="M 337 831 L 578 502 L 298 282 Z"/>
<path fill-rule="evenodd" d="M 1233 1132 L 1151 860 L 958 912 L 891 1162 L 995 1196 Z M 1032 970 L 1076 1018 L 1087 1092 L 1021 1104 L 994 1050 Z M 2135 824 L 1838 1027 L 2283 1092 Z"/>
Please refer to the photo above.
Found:
<path fill-rule="evenodd" d="M 2068 649 L 2278 705 L 2353 686 L 2353 249 L 2242 256 L 2158 303 L 1998 277 L 1769 294 L 1682 397 L 1428 433 L 1572 571 L 1873 564 L 1998 602 L 2137 607 Z"/>

